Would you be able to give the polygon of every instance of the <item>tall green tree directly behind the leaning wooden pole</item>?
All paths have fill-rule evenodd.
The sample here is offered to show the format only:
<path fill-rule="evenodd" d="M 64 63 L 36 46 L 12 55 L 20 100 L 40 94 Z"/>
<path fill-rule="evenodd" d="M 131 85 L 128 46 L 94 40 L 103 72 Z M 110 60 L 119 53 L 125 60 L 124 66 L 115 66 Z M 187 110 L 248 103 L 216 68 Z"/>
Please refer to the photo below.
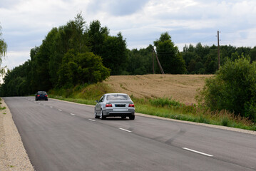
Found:
<path fill-rule="evenodd" d="M 160 38 L 154 41 L 154 45 L 165 73 L 177 74 L 186 72 L 185 61 L 167 32 L 162 33 Z"/>

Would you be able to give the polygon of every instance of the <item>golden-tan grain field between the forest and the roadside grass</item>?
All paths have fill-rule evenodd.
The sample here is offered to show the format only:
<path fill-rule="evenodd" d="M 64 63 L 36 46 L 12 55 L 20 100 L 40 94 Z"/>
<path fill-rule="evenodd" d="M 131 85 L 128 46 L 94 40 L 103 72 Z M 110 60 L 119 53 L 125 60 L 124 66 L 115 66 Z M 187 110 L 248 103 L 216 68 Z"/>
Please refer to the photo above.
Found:
<path fill-rule="evenodd" d="M 205 78 L 213 75 L 143 75 L 111 76 L 104 83 L 115 93 L 127 93 L 135 98 L 170 98 L 182 103 L 196 103 L 198 88 L 203 88 Z"/>

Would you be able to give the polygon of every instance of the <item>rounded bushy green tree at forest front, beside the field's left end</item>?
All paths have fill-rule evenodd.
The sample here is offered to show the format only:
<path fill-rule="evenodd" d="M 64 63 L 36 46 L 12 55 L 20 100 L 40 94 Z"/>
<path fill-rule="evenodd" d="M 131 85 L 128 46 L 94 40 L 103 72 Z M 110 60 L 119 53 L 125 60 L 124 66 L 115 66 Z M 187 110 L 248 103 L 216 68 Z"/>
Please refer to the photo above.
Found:
<path fill-rule="evenodd" d="M 72 87 L 103 81 L 110 76 L 110 70 L 103 66 L 101 57 L 91 52 L 77 53 L 71 49 L 63 57 L 58 75 L 60 87 Z"/>

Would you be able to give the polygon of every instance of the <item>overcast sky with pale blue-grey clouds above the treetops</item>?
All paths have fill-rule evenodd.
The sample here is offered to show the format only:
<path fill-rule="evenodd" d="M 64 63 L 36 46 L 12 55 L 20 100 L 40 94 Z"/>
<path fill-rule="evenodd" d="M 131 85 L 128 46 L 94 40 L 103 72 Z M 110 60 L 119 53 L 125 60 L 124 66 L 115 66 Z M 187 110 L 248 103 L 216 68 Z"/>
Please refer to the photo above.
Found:
<path fill-rule="evenodd" d="M 1 66 L 14 68 L 30 59 L 51 28 L 63 26 L 82 12 L 86 24 L 99 20 L 126 38 L 127 47 L 145 48 L 168 31 L 185 44 L 256 46 L 255 0 L 1 0 L 2 38 L 8 45 Z"/>

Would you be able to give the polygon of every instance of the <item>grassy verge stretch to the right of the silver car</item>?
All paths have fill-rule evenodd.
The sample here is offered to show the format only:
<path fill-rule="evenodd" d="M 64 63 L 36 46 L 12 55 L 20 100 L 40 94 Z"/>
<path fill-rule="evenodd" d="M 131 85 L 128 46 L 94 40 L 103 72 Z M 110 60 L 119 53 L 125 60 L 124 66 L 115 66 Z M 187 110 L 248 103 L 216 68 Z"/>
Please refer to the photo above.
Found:
<path fill-rule="evenodd" d="M 166 98 L 153 99 L 161 103 L 152 103 L 152 100 L 134 100 L 136 112 L 148 115 L 157 115 L 164 118 L 176 120 L 186 120 L 195 123 L 207 123 L 213 125 L 223 125 L 232 128 L 242 128 L 246 130 L 256 130 L 255 123 L 247 118 L 235 116 L 225 110 L 220 112 L 210 111 L 195 104 L 183 104 L 174 100 L 167 101 Z M 137 102 L 137 103 L 136 103 Z"/>

